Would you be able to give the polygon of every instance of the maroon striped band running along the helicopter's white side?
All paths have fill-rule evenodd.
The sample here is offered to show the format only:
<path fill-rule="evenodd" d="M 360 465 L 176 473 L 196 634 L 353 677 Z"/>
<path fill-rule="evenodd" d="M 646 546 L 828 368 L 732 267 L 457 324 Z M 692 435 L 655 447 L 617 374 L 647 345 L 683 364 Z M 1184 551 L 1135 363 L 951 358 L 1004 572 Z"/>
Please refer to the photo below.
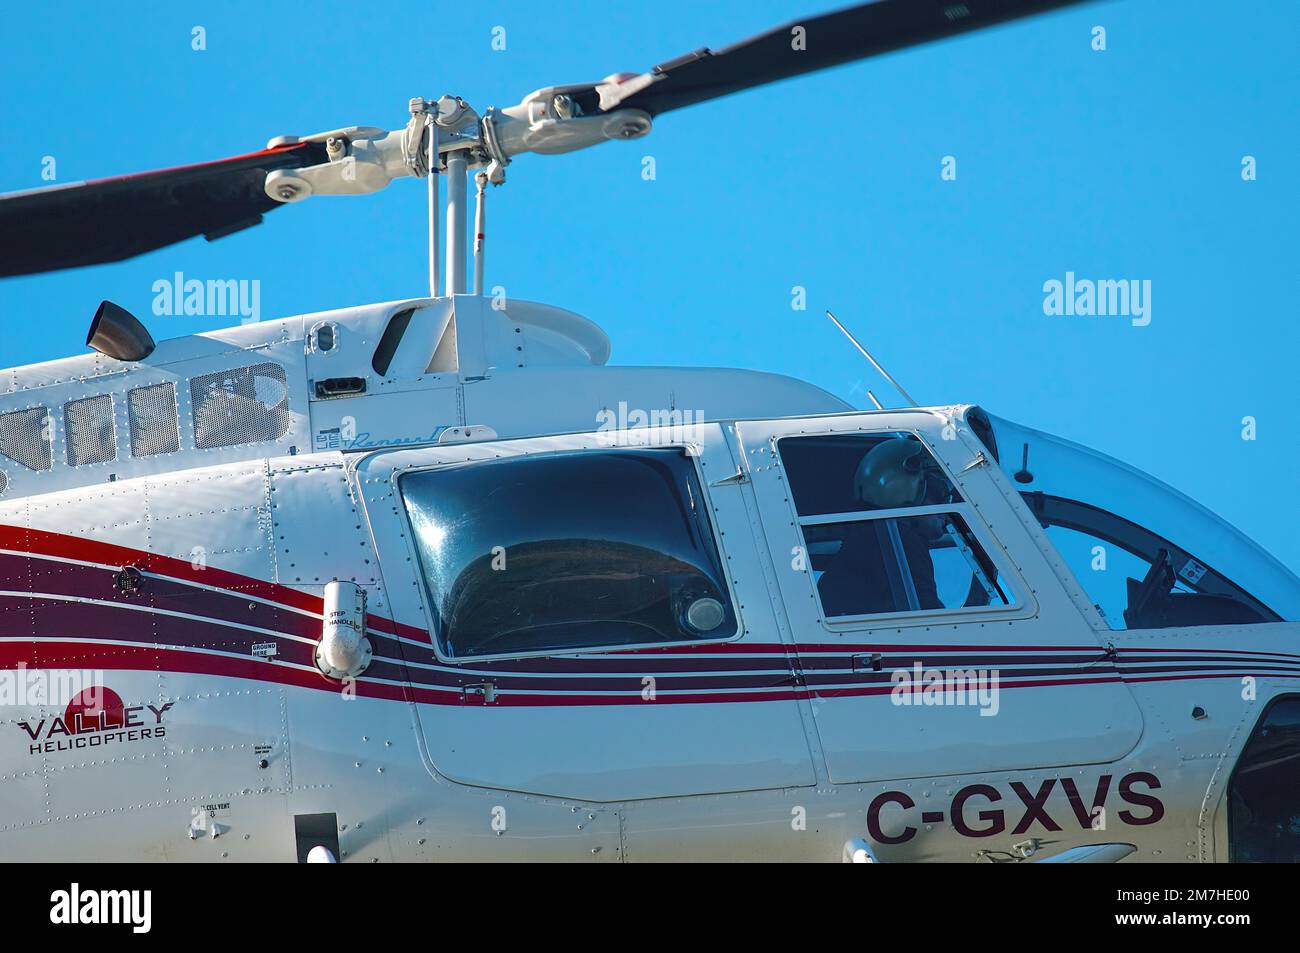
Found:
<path fill-rule="evenodd" d="M 114 586 L 113 576 L 112 569 L 100 567 L 78 566 L 30 555 L 0 554 L 0 588 L 31 589 L 38 593 L 30 598 L 0 597 L 0 634 L 35 640 L 31 663 L 46 666 L 79 664 L 84 655 L 84 646 L 75 651 L 51 649 L 49 634 L 52 632 L 57 632 L 57 637 L 64 638 L 126 642 L 127 645 L 104 646 L 104 650 L 136 660 L 142 654 L 148 653 L 150 646 L 213 649 L 251 657 L 254 645 L 273 641 L 277 645 L 278 659 L 303 666 L 313 664 L 315 646 L 311 644 L 266 633 L 247 632 L 235 627 L 235 624 L 254 625 L 281 636 L 296 634 L 315 641 L 318 637 L 320 623 L 311 616 L 274 603 L 244 598 L 234 590 L 212 590 L 172 577 L 151 576 L 140 592 L 122 594 Z M 259 582 L 257 588 L 261 586 L 263 584 Z M 40 593 L 100 599 L 105 605 L 40 598 Z M 143 610 L 146 606 L 204 618 L 177 619 L 162 612 Z M 403 644 L 376 632 L 370 633 L 370 638 L 377 657 L 368 670 L 367 677 L 393 681 L 411 680 L 419 686 L 436 686 L 452 692 L 467 683 L 490 677 L 503 692 L 545 693 L 599 689 L 634 694 L 640 698 L 644 688 L 641 680 L 646 676 L 654 676 L 655 688 L 662 692 L 707 693 L 720 689 L 754 690 L 788 686 L 790 690 L 800 690 L 793 689 L 792 673 L 784 671 L 792 659 L 790 647 L 780 644 L 699 644 L 584 654 L 581 657 L 506 659 L 480 662 L 472 666 L 448 666 L 437 659 L 430 646 Z M 978 646 L 983 654 L 958 654 L 953 646 L 932 645 L 802 644 L 798 647 L 803 651 L 833 653 L 800 657 L 802 668 L 811 672 L 810 676 L 806 676 L 806 684 L 827 696 L 875 693 L 881 688 L 892 690 L 893 672 L 906 671 L 914 663 L 927 668 L 992 667 L 997 668 L 1002 680 L 1080 676 L 1078 681 L 1036 683 L 1062 685 L 1113 681 L 1117 677 L 1115 663 L 1124 667 L 1122 677 L 1126 680 L 1153 681 L 1160 680 L 1156 676 L 1193 677 L 1193 673 L 1199 673 L 1195 677 L 1202 677 L 1208 673 L 1228 677 L 1243 667 L 1242 657 L 1249 657 L 1251 667 L 1266 675 L 1287 675 L 1295 670 L 1295 664 L 1278 659 L 1300 659 L 1300 655 L 1244 650 L 1135 649 L 1132 651 L 1160 653 L 1160 655 L 1145 659 L 1121 657 L 1112 659 L 1110 664 L 1098 666 L 1097 663 L 1102 662 L 1105 655 L 1097 647 L 1056 647 L 1054 653 L 1048 654 L 1027 654 L 1030 651 L 1041 653 L 1040 646 Z M 861 664 L 863 649 L 879 651 L 881 671 L 835 671 L 852 668 L 854 654 L 859 655 Z M 1078 653 L 1087 654 L 1079 655 Z M 706 658 L 707 655 L 727 657 Z M 433 667 L 408 668 L 404 659 Z M 1000 668 L 1008 663 L 1054 667 Z M 259 664 L 264 663 L 259 659 Z M 1145 667 L 1138 668 L 1135 667 L 1138 664 Z M 771 668 L 779 668 L 779 671 L 771 672 Z M 554 673 L 555 677 L 537 677 L 547 673 Z M 890 683 L 890 685 L 885 688 L 885 683 Z M 1017 684 L 1024 686 L 1032 683 Z M 571 699 L 572 696 L 564 696 L 564 698 Z"/>

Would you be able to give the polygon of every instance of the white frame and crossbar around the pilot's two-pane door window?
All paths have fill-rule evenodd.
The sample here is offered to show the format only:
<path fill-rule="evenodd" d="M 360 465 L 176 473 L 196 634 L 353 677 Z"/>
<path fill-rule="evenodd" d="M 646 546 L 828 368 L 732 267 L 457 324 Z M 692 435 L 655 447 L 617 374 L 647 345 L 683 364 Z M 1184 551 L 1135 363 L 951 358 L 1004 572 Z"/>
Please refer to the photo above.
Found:
<path fill-rule="evenodd" d="M 802 439 L 806 437 L 880 437 L 884 434 L 898 434 L 902 437 L 914 437 L 926 452 L 930 454 L 931 460 L 940 468 L 944 477 L 948 480 L 949 485 L 958 491 L 961 495 L 961 502 L 958 503 L 935 503 L 926 506 L 911 506 L 911 507 L 893 507 L 889 510 L 853 510 L 842 514 L 816 514 L 811 516 L 803 516 L 798 511 L 798 504 L 794 499 L 794 488 L 790 482 L 789 468 L 785 465 L 785 456 L 781 454 L 781 443 L 785 441 Z M 871 523 L 875 520 L 885 519 L 906 519 L 909 516 L 926 516 L 933 514 L 956 514 L 962 517 L 966 528 L 970 530 L 975 541 L 983 547 L 984 555 L 993 563 L 997 569 L 997 576 L 1001 584 L 1002 594 L 1006 597 L 1006 605 L 998 606 L 954 606 L 946 608 L 916 608 L 905 610 L 901 612 L 870 612 L 858 615 L 828 615 L 826 607 L 822 605 L 822 593 L 818 589 L 816 579 L 812 575 L 812 566 L 809 562 L 807 568 L 803 575 L 807 577 L 809 589 L 811 590 L 812 598 L 816 601 L 818 621 L 822 623 L 823 628 L 828 632 L 842 632 L 845 629 L 874 629 L 888 627 L 892 623 L 900 621 L 924 621 L 931 619 L 948 620 L 970 618 L 975 619 L 987 618 L 991 615 L 1002 615 L 1010 618 L 1023 618 L 1026 615 L 1032 615 L 1035 611 L 1034 602 L 1028 598 L 1028 589 L 1020 573 L 1013 564 L 1013 560 L 1008 555 L 1002 545 L 992 536 L 984 520 L 979 517 L 978 508 L 966 498 L 962 493 L 961 484 L 956 478 L 952 468 L 944 462 L 944 459 L 935 452 L 933 446 L 915 429 L 910 428 L 897 428 L 887 426 L 879 430 L 871 429 L 853 429 L 853 430 L 837 430 L 829 429 L 824 432 L 811 432 L 803 430 L 801 433 L 786 433 L 771 437 L 772 449 L 780 462 L 783 480 L 786 488 L 786 506 L 790 512 L 790 525 L 798 536 L 797 545 L 803 549 L 805 558 L 807 559 L 807 538 L 803 536 L 803 527 L 806 525 L 829 525 L 829 524 L 842 524 L 842 523 Z M 901 567 L 902 568 L 902 567 Z M 907 567 L 910 572 L 910 567 Z"/>

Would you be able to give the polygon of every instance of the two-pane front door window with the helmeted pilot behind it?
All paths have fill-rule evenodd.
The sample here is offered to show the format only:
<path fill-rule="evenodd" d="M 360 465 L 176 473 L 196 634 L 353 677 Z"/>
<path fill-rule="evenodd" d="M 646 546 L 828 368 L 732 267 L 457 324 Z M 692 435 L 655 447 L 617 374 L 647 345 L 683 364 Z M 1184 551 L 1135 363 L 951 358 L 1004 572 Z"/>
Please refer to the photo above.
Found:
<path fill-rule="evenodd" d="M 827 618 L 1011 605 L 915 434 L 786 437 L 777 450 Z"/>

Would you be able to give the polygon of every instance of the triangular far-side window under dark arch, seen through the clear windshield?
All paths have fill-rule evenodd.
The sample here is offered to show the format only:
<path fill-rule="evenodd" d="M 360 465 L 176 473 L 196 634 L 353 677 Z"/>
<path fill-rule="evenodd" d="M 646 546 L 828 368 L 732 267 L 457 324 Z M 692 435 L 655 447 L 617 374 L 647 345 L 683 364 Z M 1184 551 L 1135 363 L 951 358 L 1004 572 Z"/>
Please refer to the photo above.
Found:
<path fill-rule="evenodd" d="M 1048 493 L 1022 495 L 1112 629 L 1280 621 L 1235 582 L 1131 520 Z"/>

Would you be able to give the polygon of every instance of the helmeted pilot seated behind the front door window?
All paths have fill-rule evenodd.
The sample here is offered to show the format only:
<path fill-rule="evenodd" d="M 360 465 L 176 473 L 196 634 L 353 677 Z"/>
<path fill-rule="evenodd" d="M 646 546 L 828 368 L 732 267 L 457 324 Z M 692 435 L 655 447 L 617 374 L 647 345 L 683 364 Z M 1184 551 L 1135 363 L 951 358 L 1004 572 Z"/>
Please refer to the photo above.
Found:
<path fill-rule="evenodd" d="M 930 452 L 913 437 L 892 437 L 874 446 L 858 463 L 853 495 L 870 510 L 898 510 L 946 503 L 952 489 Z M 930 551 L 946 532 L 944 515 L 906 516 L 850 524 L 833 562 L 818 580 L 828 616 L 942 608 Z M 890 533 L 897 528 L 897 543 Z M 893 554 L 901 546 L 906 566 Z M 888 559 L 885 556 L 889 556 Z M 900 571 L 901 569 L 901 571 Z"/>

